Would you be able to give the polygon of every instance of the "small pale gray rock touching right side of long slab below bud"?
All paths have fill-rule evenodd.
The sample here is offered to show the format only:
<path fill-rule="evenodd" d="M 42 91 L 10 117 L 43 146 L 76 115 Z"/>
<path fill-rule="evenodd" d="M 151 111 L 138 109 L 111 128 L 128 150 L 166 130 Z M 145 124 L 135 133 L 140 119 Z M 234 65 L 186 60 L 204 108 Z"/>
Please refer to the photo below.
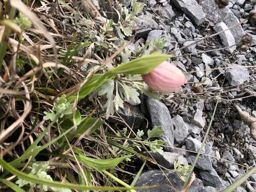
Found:
<path fill-rule="evenodd" d="M 182 143 L 188 136 L 188 126 L 183 121 L 183 118 L 179 115 L 176 115 L 172 118 L 174 130 L 174 138 L 178 143 Z"/>

